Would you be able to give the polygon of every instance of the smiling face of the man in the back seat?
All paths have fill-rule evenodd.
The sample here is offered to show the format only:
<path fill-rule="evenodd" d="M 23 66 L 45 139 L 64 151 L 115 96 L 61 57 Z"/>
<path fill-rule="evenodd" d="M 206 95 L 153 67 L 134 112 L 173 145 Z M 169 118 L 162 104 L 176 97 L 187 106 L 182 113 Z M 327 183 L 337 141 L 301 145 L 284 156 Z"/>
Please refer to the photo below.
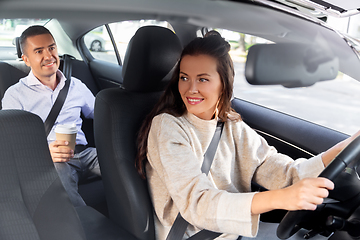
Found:
<path fill-rule="evenodd" d="M 56 43 L 50 34 L 28 37 L 22 59 L 40 81 L 56 76 L 60 65 Z"/>

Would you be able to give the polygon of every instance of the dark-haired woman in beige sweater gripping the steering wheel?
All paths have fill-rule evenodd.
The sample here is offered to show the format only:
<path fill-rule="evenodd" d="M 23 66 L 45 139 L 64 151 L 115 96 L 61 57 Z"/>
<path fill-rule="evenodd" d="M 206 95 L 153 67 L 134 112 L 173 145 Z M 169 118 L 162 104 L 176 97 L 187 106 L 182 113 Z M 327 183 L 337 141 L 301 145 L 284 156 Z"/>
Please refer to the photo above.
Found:
<path fill-rule="evenodd" d="M 334 188 L 316 176 L 355 137 L 310 159 L 278 153 L 231 108 L 229 50 L 215 31 L 190 42 L 140 131 L 136 165 L 143 176 L 146 167 L 157 239 L 166 239 L 179 212 L 190 223 L 186 238 L 207 229 L 237 239 L 257 235 L 261 213 L 314 210 Z M 217 121 L 224 129 L 206 176 L 201 165 Z M 270 191 L 251 192 L 251 181 Z"/>

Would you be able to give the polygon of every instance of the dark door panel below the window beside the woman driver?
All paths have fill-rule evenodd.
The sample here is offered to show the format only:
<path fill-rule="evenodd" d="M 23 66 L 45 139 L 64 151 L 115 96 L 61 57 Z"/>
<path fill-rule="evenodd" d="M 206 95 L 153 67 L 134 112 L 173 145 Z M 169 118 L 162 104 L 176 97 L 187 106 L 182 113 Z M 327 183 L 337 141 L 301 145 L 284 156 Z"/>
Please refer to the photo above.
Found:
<path fill-rule="evenodd" d="M 232 101 L 232 107 L 270 145 L 292 158 L 309 158 L 348 137 L 335 130 L 238 98 Z"/>

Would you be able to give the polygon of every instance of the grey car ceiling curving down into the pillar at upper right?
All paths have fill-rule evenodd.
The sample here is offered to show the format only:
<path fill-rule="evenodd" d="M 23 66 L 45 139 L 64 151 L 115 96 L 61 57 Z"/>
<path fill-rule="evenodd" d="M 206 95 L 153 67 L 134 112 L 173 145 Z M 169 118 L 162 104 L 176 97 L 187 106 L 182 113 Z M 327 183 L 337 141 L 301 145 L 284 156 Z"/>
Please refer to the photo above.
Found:
<path fill-rule="evenodd" d="M 360 73 L 351 70 L 359 59 L 343 39 L 334 37 L 336 32 L 323 26 L 321 20 L 273 1 L 263 2 L 265 7 L 258 6 L 264 3 L 246 0 L 1 0 L 0 16 L 56 18 L 72 40 L 104 23 L 157 19 L 226 28 L 274 42 L 317 43 L 343 58 L 343 72 L 350 71 L 350 76 L 360 79 Z M 359 69 L 357 65 L 355 68 Z"/>

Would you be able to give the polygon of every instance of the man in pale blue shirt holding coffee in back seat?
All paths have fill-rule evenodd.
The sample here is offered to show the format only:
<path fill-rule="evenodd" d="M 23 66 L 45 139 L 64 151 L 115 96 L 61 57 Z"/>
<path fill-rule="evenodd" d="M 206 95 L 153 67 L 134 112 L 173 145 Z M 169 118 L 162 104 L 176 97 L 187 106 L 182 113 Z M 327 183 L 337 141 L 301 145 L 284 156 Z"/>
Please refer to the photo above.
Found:
<path fill-rule="evenodd" d="M 58 69 L 60 60 L 55 40 L 43 26 L 31 26 L 20 36 L 22 59 L 31 68 L 28 76 L 11 86 L 2 99 L 3 109 L 21 109 L 37 114 L 43 121 L 47 118 L 66 78 Z M 64 105 L 57 116 L 47 140 L 52 160 L 60 179 L 74 206 L 84 206 L 78 193 L 82 178 L 100 175 L 95 148 L 86 148 L 87 141 L 81 130 L 82 112 L 86 118 L 94 117 L 95 98 L 80 80 L 71 77 L 71 84 Z M 54 129 L 58 124 L 77 126 L 75 152 L 60 146 L 66 141 L 56 140 Z M 78 149 L 81 150 L 78 151 Z"/>

